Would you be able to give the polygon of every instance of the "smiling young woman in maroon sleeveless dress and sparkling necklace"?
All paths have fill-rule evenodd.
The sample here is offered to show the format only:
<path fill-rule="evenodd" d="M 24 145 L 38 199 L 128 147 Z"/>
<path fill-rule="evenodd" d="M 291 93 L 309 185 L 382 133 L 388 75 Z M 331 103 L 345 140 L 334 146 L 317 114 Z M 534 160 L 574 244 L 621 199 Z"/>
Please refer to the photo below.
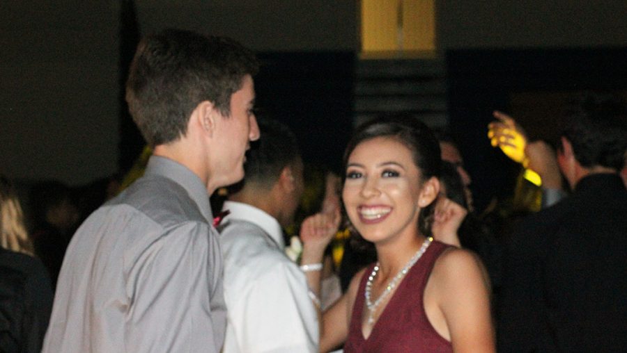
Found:
<path fill-rule="evenodd" d="M 343 202 L 378 262 L 323 318 L 323 352 L 493 352 L 488 281 L 467 250 L 433 240 L 440 149 L 417 122 L 373 123 L 344 158 Z"/>

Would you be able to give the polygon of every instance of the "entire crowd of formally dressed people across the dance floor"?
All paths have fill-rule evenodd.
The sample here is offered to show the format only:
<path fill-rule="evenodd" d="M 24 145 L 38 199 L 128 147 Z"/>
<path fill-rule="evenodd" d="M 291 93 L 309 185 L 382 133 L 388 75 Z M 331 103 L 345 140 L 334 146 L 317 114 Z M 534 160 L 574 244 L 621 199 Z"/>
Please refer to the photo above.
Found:
<path fill-rule="evenodd" d="M 542 181 L 542 209 L 506 227 L 410 115 L 357 126 L 299 217 L 307 163 L 257 120 L 257 70 L 228 38 L 149 35 L 126 85 L 143 176 L 98 202 L 33 186 L 29 220 L 1 179 L 2 352 L 627 350 L 621 101 L 580 97 L 554 145 L 494 113 L 493 145 Z"/>

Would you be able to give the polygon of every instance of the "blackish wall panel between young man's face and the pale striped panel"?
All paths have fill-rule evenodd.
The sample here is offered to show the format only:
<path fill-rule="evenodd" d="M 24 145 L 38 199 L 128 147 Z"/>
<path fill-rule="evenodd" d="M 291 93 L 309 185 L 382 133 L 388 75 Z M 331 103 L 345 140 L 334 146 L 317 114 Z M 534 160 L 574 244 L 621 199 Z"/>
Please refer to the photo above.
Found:
<path fill-rule="evenodd" d="M 267 52 L 259 57 L 259 116 L 290 126 L 304 161 L 340 172 L 353 127 L 354 52 Z"/>

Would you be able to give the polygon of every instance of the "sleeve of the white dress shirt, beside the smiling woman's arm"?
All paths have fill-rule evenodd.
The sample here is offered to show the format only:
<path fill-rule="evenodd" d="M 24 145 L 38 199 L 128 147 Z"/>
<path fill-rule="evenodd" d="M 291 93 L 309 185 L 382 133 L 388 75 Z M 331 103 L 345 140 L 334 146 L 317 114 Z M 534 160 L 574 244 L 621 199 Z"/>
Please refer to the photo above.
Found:
<path fill-rule="evenodd" d="M 288 261 L 263 272 L 240 293 L 239 302 L 229 307 L 238 350 L 318 352 L 318 317 L 304 274 Z"/>

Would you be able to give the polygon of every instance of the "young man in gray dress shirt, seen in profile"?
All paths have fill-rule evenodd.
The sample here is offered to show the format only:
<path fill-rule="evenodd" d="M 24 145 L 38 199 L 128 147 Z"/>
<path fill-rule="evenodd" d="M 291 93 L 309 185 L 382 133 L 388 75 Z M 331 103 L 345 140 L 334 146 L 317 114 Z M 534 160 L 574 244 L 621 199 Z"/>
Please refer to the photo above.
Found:
<path fill-rule="evenodd" d="M 226 38 L 167 30 L 139 44 L 126 99 L 153 156 L 72 238 L 44 352 L 219 352 L 226 308 L 208 195 L 242 179 L 259 137 L 257 67 Z"/>

